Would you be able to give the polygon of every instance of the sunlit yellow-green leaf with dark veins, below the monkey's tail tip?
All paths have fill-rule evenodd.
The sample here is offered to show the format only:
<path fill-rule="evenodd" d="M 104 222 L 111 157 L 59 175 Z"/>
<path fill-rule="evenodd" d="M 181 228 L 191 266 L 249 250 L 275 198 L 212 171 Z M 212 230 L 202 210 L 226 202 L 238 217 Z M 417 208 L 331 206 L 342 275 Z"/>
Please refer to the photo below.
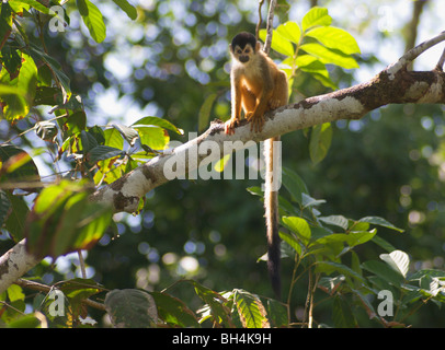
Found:
<path fill-rule="evenodd" d="M 238 312 L 242 327 L 270 327 L 264 305 L 256 295 L 243 290 L 236 290 L 233 293 L 233 307 Z"/>

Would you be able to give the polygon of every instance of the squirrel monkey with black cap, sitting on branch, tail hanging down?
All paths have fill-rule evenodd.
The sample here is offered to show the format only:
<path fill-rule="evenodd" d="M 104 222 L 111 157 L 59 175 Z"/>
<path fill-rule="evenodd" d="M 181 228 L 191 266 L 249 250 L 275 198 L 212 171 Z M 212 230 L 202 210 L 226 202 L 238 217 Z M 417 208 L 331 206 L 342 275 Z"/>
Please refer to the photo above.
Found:
<path fill-rule="evenodd" d="M 231 118 L 226 121 L 225 132 L 235 133 L 241 115 L 251 124 L 252 131 L 261 131 L 264 125 L 264 113 L 284 106 L 288 101 L 286 74 L 262 50 L 261 43 L 250 33 L 239 33 L 231 42 L 230 71 Z M 264 209 L 267 230 L 267 269 L 275 294 L 281 294 L 279 278 L 279 234 L 278 234 L 278 198 L 272 190 L 273 182 L 273 141 L 265 141 L 264 158 L 266 163 Z"/>

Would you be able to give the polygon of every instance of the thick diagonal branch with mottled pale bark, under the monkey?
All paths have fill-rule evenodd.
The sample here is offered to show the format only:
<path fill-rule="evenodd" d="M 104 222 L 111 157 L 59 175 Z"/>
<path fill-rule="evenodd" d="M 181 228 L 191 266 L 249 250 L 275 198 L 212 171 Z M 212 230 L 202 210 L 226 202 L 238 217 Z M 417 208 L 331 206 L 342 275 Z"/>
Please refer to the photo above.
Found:
<path fill-rule="evenodd" d="M 224 132 L 224 122 L 216 120 L 199 137 L 181 144 L 100 188 L 91 196 L 93 201 L 111 203 L 115 212 L 134 212 L 139 199 L 167 182 L 218 161 L 238 151 L 248 141 L 263 141 L 295 130 L 340 119 L 360 119 L 368 112 L 388 104 L 445 103 L 445 73 L 441 69 L 417 72 L 407 66 L 433 45 L 445 40 L 445 32 L 404 54 L 367 82 L 306 98 L 279 107 L 265 115 L 261 132 L 252 132 L 242 120 L 235 135 Z M 227 147 L 230 141 L 231 147 Z M 0 257 L 0 293 L 23 276 L 38 259 L 25 249 L 25 242 L 16 244 Z"/>

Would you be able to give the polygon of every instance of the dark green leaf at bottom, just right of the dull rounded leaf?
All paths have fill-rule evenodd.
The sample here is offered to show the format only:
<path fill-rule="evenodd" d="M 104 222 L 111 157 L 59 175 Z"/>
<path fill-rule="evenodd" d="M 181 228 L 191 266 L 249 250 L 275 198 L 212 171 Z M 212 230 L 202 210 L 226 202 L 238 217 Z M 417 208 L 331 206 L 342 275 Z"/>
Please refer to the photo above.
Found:
<path fill-rule="evenodd" d="M 158 315 L 171 327 L 201 328 L 196 315 L 179 299 L 167 293 L 150 292 L 158 307 Z"/>

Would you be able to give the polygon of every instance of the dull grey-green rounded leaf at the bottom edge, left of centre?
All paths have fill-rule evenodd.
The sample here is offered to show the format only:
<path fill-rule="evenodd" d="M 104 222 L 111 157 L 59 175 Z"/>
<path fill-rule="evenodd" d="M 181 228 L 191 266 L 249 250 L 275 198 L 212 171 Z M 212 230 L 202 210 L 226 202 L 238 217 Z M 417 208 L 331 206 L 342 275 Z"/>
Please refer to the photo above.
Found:
<path fill-rule="evenodd" d="M 135 289 L 112 290 L 105 296 L 105 310 L 113 326 L 118 328 L 151 328 L 158 323 L 153 298 Z"/>

